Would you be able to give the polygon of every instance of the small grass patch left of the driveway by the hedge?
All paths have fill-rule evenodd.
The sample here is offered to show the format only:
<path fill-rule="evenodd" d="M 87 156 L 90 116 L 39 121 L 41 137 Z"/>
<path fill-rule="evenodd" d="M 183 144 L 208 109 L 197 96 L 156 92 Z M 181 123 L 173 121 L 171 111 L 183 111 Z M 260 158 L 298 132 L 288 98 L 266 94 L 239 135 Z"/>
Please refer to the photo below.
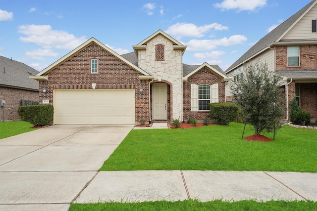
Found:
<path fill-rule="evenodd" d="M 33 125 L 24 121 L 0 122 L 0 139 L 35 130 Z"/>

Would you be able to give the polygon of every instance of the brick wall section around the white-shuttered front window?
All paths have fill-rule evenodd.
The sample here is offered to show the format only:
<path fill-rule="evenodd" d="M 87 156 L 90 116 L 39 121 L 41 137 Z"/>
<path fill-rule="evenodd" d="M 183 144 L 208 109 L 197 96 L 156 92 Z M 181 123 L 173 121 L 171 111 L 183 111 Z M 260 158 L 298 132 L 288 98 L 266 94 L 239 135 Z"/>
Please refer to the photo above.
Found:
<path fill-rule="evenodd" d="M 225 83 L 207 67 L 202 68 L 196 74 L 188 78 L 187 83 L 183 83 L 183 120 L 187 121 L 189 116 L 197 120 L 210 119 L 209 111 L 191 111 L 191 85 L 190 84 L 218 84 L 218 102 L 225 102 Z"/>

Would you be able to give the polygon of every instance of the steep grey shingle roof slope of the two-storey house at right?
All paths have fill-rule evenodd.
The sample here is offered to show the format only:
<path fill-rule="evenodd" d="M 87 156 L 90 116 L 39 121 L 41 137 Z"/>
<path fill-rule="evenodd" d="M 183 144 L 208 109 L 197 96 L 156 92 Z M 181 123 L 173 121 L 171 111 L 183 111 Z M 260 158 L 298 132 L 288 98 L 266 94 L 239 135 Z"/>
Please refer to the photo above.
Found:
<path fill-rule="evenodd" d="M 317 3 L 317 0 L 311 1 L 297 13 L 292 15 L 286 21 L 281 23 L 275 29 L 273 29 L 270 33 L 264 36 L 260 41 L 254 44 L 246 53 L 244 53 L 237 61 L 235 61 L 226 71 L 225 73 L 230 72 L 237 66 L 241 65 L 247 60 L 250 60 L 252 57 L 258 55 L 264 50 L 268 49 L 271 44 L 274 42 L 280 42 L 280 40 L 284 37 L 284 35 L 289 32 L 293 28 L 293 26 Z"/>

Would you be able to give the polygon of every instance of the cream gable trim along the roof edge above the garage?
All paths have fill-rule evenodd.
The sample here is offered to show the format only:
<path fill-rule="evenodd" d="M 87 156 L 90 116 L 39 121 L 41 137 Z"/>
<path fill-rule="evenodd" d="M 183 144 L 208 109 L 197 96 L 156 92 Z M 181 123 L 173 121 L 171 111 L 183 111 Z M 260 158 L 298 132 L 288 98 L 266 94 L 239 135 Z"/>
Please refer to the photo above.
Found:
<path fill-rule="evenodd" d="M 65 56 L 63 56 L 60 59 L 58 59 L 57 61 L 55 61 L 53 64 L 51 64 L 50 66 L 48 66 L 47 68 L 42 70 L 40 73 L 38 73 L 36 76 L 30 77 L 30 78 L 34 79 L 34 80 L 47 80 L 46 75 L 49 72 L 51 72 L 55 67 L 57 67 L 61 63 L 65 62 L 66 60 L 68 60 L 69 58 L 71 58 L 72 56 L 74 56 L 75 54 L 77 54 L 78 52 L 80 52 L 81 50 L 83 50 L 85 47 L 87 47 L 88 45 L 90 45 L 93 42 L 95 42 L 96 44 L 98 44 L 99 46 L 104 48 L 106 51 L 110 52 L 112 55 L 114 55 L 118 59 L 122 60 L 124 63 L 126 63 L 127 65 L 129 65 L 130 67 L 132 67 L 133 69 L 138 71 L 140 74 L 143 74 L 145 76 L 150 76 L 149 73 L 147 73 L 146 71 L 142 70 L 138 66 L 134 65 L 133 63 L 131 63 L 130 61 L 128 61 L 124 57 L 120 56 L 118 53 L 116 53 L 115 51 L 113 51 L 112 49 L 107 47 L 105 44 L 99 42 L 95 38 L 91 38 L 88 41 L 86 41 L 86 42 L 82 43 L 81 45 L 79 45 L 78 47 L 76 47 L 74 50 L 72 50 L 69 53 L 67 53 Z"/>

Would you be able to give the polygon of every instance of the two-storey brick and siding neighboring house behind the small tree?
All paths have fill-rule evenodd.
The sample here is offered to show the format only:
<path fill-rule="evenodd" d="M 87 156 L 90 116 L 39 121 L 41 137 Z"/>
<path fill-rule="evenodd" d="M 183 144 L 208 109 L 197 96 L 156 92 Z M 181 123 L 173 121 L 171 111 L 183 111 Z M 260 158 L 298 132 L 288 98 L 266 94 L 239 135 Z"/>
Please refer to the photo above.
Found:
<path fill-rule="evenodd" d="M 243 65 L 265 62 L 270 71 L 280 74 L 285 92 L 285 120 L 289 120 L 289 102 L 294 97 L 300 107 L 317 117 L 317 1 L 313 0 L 281 23 L 243 54 L 225 73 L 243 77 Z M 229 84 L 226 101 L 232 100 Z"/>

